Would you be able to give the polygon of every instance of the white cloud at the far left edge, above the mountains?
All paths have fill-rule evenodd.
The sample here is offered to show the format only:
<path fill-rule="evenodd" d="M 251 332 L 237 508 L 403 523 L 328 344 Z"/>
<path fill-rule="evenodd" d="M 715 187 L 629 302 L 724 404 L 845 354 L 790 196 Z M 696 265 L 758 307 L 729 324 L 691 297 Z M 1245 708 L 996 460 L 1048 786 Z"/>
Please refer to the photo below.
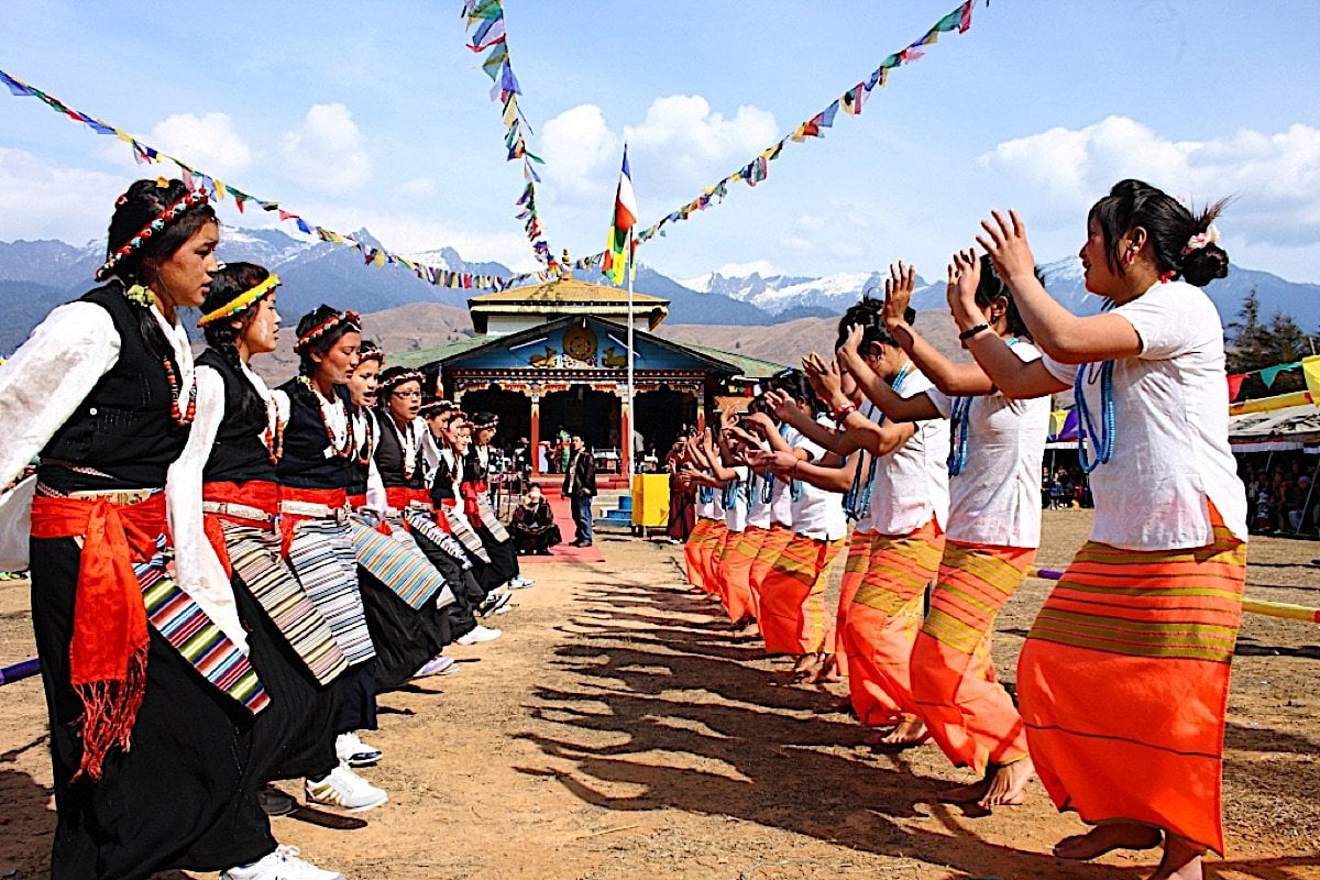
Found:
<path fill-rule="evenodd" d="M 0 240 L 104 240 L 127 179 L 0 148 Z"/>

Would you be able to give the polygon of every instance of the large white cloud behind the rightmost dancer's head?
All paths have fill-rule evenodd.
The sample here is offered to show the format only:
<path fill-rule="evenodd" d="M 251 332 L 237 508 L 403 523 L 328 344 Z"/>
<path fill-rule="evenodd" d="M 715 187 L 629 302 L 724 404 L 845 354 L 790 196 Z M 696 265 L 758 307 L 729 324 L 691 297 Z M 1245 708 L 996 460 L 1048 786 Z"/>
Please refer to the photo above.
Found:
<path fill-rule="evenodd" d="M 1076 224 L 1115 181 L 1137 177 L 1196 206 L 1236 195 L 1221 226 L 1243 241 L 1303 247 L 1320 235 L 1320 129 L 1311 125 L 1175 141 L 1109 116 L 1005 141 L 977 161 L 1028 183 L 1047 224 Z"/>

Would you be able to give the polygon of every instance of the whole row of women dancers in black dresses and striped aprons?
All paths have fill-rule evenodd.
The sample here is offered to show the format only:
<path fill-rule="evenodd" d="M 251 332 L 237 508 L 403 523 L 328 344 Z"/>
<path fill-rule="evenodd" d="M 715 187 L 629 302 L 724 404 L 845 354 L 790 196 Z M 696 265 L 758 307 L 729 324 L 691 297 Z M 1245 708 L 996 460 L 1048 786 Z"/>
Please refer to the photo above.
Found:
<path fill-rule="evenodd" d="M 207 194 L 137 181 L 102 282 L 0 367 L 0 480 L 37 460 L 32 613 L 50 716 L 51 876 L 223 871 L 334 880 L 263 797 L 367 810 L 376 694 L 453 669 L 450 643 L 531 586 L 486 500 L 491 420 L 418 416 L 351 311 L 297 326 L 268 389 L 279 278 L 220 268 Z M 182 309 L 199 307 L 194 360 Z M 474 438 L 475 433 L 475 438 Z"/>

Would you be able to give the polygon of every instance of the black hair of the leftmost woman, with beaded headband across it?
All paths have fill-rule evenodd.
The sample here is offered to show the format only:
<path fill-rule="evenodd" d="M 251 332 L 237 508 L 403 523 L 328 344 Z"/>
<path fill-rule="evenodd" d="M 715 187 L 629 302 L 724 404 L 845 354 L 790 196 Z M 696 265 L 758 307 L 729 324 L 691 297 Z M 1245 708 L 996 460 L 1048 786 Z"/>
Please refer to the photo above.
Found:
<path fill-rule="evenodd" d="M 161 186 L 158 181 L 135 181 L 115 203 L 115 214 L 110 218 L 110 231 L 106 235 L 106 259 L 114 256 L 147 224 L 187 193 L 189 187 L 178 179 L 166 181 L 165 186 Z M 125 285 L 145 285 L 143 264 L 148 260 L 158 263 L 169 257 L 207 223 L 219 224 L 219 220 L 215 219 L 215 210 L 210 204 L 187 206 L 164 228 L 143 240 L 141 247 L 133 249 L 108 269 L 108 274 L 116 276 Z"/>

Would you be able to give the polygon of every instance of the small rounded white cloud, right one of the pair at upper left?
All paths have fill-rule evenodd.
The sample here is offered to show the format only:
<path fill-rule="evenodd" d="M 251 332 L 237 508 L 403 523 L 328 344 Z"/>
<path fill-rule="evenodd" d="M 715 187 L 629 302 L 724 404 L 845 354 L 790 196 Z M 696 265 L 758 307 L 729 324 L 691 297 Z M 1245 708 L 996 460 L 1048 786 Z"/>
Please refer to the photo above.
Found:
<path fill-rule="evenodd" d="M 360 190 L 371 179 L 371 154 L 352 113 L 343 104 L 315 104 L 280 142 L 284 162 L 310 191 Z"/>

